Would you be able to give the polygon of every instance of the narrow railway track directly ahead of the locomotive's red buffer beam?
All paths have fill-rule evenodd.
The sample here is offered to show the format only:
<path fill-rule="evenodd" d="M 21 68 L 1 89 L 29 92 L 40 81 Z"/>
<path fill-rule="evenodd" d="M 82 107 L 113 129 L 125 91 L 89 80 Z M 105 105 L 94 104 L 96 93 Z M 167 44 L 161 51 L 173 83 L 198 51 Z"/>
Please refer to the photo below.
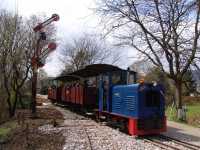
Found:
<path fill-rule="evenodd" d="M 165 135 L 145 137 L 144 141 L 158 146 L 162 149 L 182 150 L 183 148 L 185 148 L 189 150 L 200 150 L 200 146 L 198 145 L 180 141 L 178 139 L 174 139 Z"/>

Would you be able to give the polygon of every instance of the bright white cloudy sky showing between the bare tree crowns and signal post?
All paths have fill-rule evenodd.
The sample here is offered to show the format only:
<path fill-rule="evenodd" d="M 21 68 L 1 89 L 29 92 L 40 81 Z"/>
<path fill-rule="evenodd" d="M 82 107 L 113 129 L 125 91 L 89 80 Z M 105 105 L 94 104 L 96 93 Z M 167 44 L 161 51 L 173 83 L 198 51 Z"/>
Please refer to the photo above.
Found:
<path fill-rule="evenodd" d="M 82 32 L 92 32 L 99 23 L 97 16 L 93 14 L 90 8 L 95 7 L 95 0 L 0 0 L 1 6 L 4 9 L 18 12 L 20 15 L 29 17 L 33 14 L 45 13 L 46 16 L 51 16 L 57 13 L 60 20 L 55 22 L 58 31 L 58 39 L 66 40 L 74 37 Z M 58 47 L 59 48 L 59 47 Z M 126 50 L 122 67 L 127 67 L 131 64 L 132 51 Z M 51 54 L 48 63 L 44 69 L 49 76 L 56 76 L 63 69 L 63 66 L 58 61 L 58 51 Z"/>

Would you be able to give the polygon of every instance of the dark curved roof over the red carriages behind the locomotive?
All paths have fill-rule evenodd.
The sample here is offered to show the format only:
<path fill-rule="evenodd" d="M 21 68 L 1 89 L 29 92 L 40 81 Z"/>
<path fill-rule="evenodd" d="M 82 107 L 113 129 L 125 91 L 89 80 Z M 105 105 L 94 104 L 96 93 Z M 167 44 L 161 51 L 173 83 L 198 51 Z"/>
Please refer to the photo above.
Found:
<path fill-rule="evenodd" d="M 113 71 L 125 71 L 125 70 L 109 64 L 93 64 L 93 65 L 88 65 L 85 68 L 77 70 L 75 72 L 58 76 L 54 80 L 73 81 L 73 80 L 79 80 L 80 78 L 98 76 L 99 74 L 113 72 Z"/>

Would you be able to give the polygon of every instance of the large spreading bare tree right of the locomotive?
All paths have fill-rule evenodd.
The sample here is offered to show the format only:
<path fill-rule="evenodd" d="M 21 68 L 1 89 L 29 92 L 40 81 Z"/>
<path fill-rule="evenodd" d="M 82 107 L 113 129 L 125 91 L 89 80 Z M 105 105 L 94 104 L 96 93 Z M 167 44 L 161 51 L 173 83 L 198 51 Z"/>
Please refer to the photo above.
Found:
<path fill-rule="evenodd" d="M 120 40 L 143 54 L 176 86 L 178 118 L 182 81 L 199 55 L 199 0 L 97 0 L 97 13 Z"/>

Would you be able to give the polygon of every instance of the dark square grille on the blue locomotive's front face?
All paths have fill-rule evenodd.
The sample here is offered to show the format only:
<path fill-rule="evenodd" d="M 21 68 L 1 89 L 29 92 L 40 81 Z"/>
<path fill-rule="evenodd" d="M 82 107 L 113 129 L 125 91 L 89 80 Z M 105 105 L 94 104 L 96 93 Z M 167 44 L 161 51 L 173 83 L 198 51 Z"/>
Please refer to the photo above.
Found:
<path fill-rule="evenodd" d="M 145 94 L 146 107 L 160 106 L 160 93 L 158 91 L 147 91 Z"/>

